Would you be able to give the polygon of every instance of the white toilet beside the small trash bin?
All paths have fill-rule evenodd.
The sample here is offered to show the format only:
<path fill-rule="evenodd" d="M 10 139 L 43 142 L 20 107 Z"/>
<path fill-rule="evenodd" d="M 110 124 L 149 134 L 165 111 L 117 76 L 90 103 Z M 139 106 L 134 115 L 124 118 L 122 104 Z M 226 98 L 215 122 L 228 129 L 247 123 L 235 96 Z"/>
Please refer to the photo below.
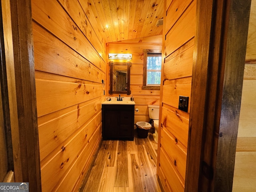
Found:
<path fill-rule="evenodd" d="M 159 124 L 159 105 L 148 105 L 149 118 L 152 119 L 152 125 L 155 128 L 153 134 L 155 142 L 158 142 L 158 124 Z"/>

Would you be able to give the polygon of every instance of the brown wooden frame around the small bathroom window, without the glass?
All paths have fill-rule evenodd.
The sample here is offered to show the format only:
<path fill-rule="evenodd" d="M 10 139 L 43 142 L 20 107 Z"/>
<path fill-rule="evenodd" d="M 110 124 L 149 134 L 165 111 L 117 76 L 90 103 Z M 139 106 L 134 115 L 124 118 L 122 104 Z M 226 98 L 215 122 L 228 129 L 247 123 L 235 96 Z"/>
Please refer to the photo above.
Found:
<path fill-rule="evenodd" d="M 147 85 L 147 58 L 148 53 L 162 54 L 160 49 L 144 49 L 143 50 L 143 86 L 142 89 L 145 90 L 160 90 L 160 85 Z M 161 72 L 161 71 L 160 71 Z"/>

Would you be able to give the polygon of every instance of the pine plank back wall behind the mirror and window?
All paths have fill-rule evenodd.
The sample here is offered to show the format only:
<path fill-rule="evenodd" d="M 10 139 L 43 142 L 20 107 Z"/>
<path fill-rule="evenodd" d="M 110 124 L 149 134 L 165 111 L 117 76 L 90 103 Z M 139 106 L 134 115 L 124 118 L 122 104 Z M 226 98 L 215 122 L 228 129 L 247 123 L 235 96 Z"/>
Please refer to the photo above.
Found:
<path fill-rule="evenodd" d="M 122 94 L 123 97 L 134 97 L 136 103 L 135 108 L 139 112 L 135 112 L 134 124 L 138 121 L 149 122 L 148 105 L 159 105 L 160 90 L 142 90 L 143 86 L 143 49 L 158 49 L 162 50 L 162 35 L 152 36 L 147 38 L 138 38 L 125 40 L 120 42 L 111 42 L 107 45 L 107 53 L 131 53 L 132 63 L 130 71 L 130 90 L 131 94 Z M 107 54 L 108 55 L 108 54 Z M 107 59 L 109 62 L 110 60 Z M 126 62 L 126 60 L 114 60 L 114 62 Z M 106 64 L 106 76 L 109 76 L 109 65 Z M 109 78 L 106 81 L 106 92 L 108 95 Z M 118 96 L 113 94 L 109 96 Z"/>

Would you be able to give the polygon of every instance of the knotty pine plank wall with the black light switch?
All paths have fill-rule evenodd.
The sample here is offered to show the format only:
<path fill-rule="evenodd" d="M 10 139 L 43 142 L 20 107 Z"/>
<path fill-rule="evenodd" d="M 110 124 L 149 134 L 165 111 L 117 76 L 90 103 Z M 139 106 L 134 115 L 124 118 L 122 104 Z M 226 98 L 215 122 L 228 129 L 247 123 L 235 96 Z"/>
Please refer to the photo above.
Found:
<path fill-rule="evenodd" d="M 165 1 L 164 66 L 158 177 L 164 191 L 184 191 L 190 112 L 196 0 Z M 178 109 L 188 96 L 188 112 Z"/>

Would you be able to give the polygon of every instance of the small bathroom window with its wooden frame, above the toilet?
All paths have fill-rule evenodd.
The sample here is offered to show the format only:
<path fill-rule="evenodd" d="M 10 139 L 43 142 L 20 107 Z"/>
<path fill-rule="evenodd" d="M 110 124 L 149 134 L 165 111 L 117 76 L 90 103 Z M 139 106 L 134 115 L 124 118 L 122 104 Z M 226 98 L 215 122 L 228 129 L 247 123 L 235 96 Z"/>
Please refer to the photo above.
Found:
<path fill-rule="evenodd" d="M 161 84 L 161 50 L 143 50 L 144 70 L 142 89 L 160 89 Z"/>

